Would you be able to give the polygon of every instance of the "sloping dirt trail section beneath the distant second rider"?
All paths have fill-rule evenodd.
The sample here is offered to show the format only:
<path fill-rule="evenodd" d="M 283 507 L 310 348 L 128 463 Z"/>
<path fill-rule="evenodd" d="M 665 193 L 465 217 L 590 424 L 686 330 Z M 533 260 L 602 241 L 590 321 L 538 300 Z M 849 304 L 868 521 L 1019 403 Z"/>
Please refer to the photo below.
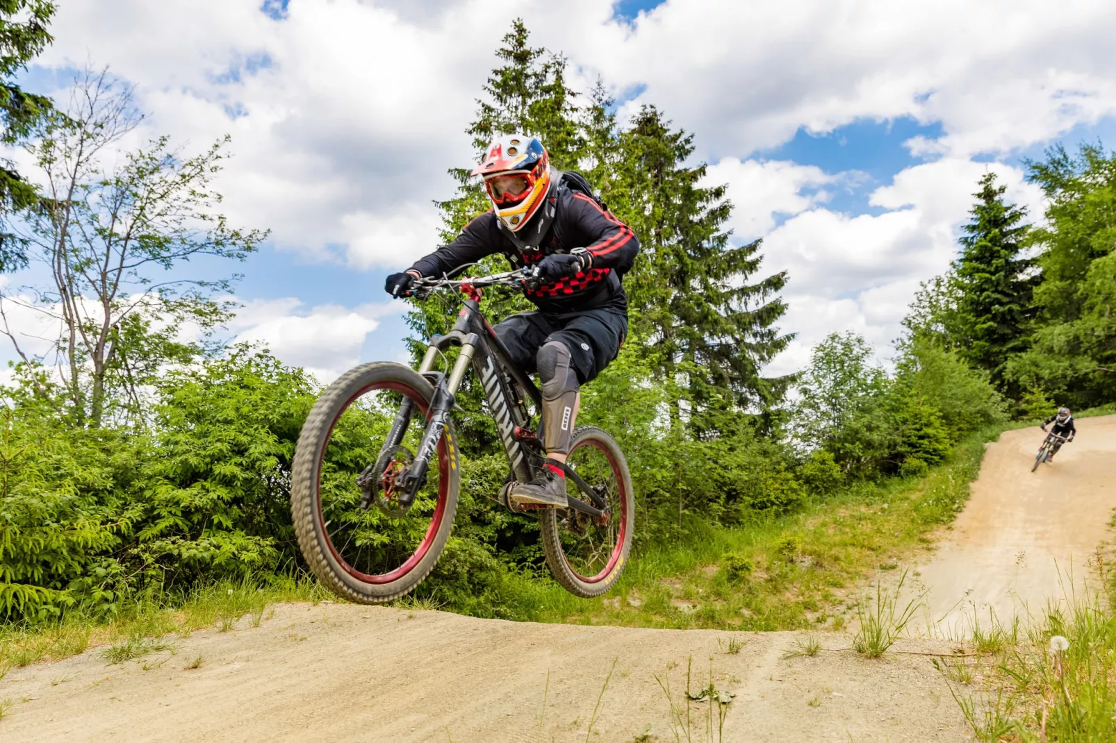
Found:
<path fill-rule="evenodd" d="M 1116 506 L 1116 416 L 1077 421 L 1077 431 L 1035 473 L 1037 427 L 989 446 L 969 504 L 920 569 L 930 617 L 946 636 L 970 627 L 974 612 L 983 625 L 990 609 L 1001 621 L 1024 618 L 1084 590 Z"/>

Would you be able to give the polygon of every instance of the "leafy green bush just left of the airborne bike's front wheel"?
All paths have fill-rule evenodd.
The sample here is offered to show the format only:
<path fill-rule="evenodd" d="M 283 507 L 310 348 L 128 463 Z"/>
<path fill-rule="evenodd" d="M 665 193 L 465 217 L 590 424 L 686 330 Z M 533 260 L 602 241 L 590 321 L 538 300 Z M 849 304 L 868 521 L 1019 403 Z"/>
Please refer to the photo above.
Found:
<path fill-rule="evenodd" d="M 145 570 L 223 578 L 273 570 L 279 544 L 294 557 L 290 461 L 314 393 L 301 369 L 244 346 L 160 382 Z"/>

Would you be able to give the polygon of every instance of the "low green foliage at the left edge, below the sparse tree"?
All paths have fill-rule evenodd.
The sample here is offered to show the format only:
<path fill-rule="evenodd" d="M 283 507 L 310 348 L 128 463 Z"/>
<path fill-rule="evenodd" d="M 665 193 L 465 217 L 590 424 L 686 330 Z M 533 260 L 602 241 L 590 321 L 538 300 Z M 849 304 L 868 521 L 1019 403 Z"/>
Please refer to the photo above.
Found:
<path fill-rule="evenodd" d="M 146 443 L 68 430 L 44 407 L 2 415 L 0 617 L 116 601 L 127 571 L 115 552 L 143 514 Z"/>

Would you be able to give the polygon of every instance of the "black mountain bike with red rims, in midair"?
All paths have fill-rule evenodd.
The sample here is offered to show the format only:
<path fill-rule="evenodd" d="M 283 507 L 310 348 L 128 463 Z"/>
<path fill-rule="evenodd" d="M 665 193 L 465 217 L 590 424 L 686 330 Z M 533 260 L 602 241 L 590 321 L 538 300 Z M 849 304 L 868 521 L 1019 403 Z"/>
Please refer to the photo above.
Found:
<path fill-rule="evenodd" d="M 420 280 L 420 298 L 442 290 L 463 295 L 452 329 L 430 339 L 417 369 L 363 364 L 314 404 L 295 452 L 291 512 L 307 563 L 339 596 L 388 601 L 414 589 L 437 563 L 458 509 L 461 456 L 453 413 L 470 369 L 483 387 L 510 470 L 499 492 L 485 495 L 538 518 L 547 566 L 568 591 L 589 598 L 616 583 L 632 547 L 635 504 L 627 462 L 608 433 L 575 428 L 569 459 L 559 465 L 566 508 L 518 506 L 508 498 L 512 483 L 538 476 L 545 461 L 536 433 L 541 395 L 510 361 L 480 300 L 484 288 L 529 281 L 523 269 Z M 452 367 L 451 347 L 460 348 Z"/>

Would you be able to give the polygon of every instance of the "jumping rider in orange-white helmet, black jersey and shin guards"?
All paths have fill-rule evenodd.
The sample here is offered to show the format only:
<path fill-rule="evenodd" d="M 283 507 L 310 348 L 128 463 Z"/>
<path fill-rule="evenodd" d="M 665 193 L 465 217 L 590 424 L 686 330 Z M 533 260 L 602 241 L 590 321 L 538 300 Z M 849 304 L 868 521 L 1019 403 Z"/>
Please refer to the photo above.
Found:
<path fill-rule="evenodd" d="M 542 392 L 543 474 L 509 491 L 516 504 L 566 506 L 565 473 L 580 403 L 580 386 L 619 353 L 627 335 L 627 298 L 620 278 L 639 242 L 631 228 L 591 196 L 577 174 L 550 166 L 538 137 L 501 136 L 471 175 L 484 180 L 492 209 L 473 219 L 448 245 L 408 270 L 387 277 L 385 290 L 408 297 L 415 280 L 452 274 L 494 254 L 530 267 L 523 293 L 537 311 L 496 326 L 511 361 L 538 373 Z"/>

